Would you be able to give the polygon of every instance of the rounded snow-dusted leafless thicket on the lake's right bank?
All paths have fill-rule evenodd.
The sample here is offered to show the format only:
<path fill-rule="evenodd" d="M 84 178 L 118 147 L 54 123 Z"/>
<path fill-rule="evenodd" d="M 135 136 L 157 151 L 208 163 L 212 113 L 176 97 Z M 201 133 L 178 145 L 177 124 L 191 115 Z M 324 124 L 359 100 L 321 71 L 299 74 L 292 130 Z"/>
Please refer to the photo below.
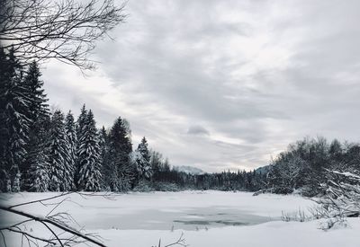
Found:
<path fill-rule="evenodd" d="M 329 190 L 329 182 L 344 181 L 340 176 L 334 178 L 334 171 L 360 175 L 360 145 L 337 139 L 329 143 L 324 137 L 304 138 L 288 146 L 271 163 L 265 189 L 322 196 Z"/>

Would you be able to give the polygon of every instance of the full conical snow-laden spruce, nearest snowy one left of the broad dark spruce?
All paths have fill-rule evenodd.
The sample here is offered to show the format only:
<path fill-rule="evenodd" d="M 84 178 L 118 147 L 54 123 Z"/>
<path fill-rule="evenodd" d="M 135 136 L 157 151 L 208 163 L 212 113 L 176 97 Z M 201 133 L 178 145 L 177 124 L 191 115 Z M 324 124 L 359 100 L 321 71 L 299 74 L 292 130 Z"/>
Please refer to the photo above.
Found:
<path fill-rule="evenodd" d="M 101 156 L 94 115 L 91 110 L 87 113 L 84 122 L 77 154 L 78 190 L 99 191 L 101 189 Z"/>

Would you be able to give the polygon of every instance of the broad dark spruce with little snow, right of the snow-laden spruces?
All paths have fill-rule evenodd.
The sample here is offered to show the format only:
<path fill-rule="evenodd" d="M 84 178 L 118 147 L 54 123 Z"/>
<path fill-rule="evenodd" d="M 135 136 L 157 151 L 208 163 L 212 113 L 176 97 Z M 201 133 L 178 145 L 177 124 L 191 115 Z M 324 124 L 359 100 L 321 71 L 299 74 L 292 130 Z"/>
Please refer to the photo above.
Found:
<path fill-rule="evenodd" d="M 129 190 L 134 167 L 130 163 L 132 146 L 127 127 L 119 117 L 115 120 L 108 139 L 109 150 L 105 157 L 104 182 L 112 191 Z"/>

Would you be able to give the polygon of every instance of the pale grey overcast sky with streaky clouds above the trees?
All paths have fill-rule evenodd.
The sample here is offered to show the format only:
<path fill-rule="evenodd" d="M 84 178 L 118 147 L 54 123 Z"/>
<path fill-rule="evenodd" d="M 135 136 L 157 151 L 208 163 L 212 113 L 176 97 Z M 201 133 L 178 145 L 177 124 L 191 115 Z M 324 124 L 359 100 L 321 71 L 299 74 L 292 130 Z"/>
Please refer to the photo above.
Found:
<path fill-rule="evenodd" d="M 50 103 L 130 121 L 174 165 L 253 169 L 302 137 L 360 140 L 360 1 L 130 0 L 84 77 L 51 62 Z"/>

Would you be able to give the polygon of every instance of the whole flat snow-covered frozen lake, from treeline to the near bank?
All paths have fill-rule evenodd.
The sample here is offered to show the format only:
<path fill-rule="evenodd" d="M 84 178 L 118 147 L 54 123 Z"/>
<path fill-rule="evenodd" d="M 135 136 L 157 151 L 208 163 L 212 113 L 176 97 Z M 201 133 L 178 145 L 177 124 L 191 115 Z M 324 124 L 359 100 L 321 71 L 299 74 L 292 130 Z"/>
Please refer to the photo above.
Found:
<path fill-rule="evenodd" d="M 9 196 L 7 203 L 16 204 L 53 195 L 54 193 L 16 194 Z M 112 194 L 110 198 L 103 198 L 101 193 L 88 197 L 72 194 L 66 198 L 54 212 L 70 213 L 78 225 L 89 230 L 194 231 L 258 225 L 279 220 L 282 210 L 296 211 L 299 207 L 311 204 L 311 201 L 300 197 L 287 197 L 288 202 L 284 204 L 284 196 L 253 197 L 252 193 L 224 191 Z M 291 209 L 287 209 L 289 207 Z M 26 209 L 37 214 L 47 214 L 52 207 L 34 204 Z"/>

